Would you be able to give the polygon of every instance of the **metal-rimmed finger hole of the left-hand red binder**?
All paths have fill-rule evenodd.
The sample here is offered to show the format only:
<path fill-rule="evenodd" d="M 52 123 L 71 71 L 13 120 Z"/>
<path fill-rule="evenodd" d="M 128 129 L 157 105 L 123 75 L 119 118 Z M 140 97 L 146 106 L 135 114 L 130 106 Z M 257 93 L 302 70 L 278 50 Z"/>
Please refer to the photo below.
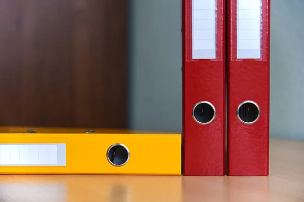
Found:
<path fill-rule="evenodd" d="M 207 102 L 197 103 L 192 110 L 193 119 L 202 125 L 210 124 L 215 119 L 215 107 Z"/>

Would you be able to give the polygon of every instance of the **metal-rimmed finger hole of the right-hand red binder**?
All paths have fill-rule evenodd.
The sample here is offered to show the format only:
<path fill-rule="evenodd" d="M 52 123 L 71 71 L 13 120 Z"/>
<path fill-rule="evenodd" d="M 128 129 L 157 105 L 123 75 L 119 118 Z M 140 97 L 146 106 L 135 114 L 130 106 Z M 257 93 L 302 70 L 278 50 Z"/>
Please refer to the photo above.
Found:
<path fill-rule="evenodd" d="M 247 100 L 239 105 L 237 117 L 244 124 L 253 124 L 260 117 L 260 108 L 255 102 Z"/>

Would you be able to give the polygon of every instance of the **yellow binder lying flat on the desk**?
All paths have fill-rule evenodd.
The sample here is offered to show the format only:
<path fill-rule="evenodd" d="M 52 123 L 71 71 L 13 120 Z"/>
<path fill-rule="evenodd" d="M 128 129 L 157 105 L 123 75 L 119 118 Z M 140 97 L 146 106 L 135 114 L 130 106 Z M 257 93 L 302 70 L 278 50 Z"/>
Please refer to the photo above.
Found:
<path fill-rule="evenodd" d="M 0 174 L 181 175 L 181 134 L 2 133 Z"/>

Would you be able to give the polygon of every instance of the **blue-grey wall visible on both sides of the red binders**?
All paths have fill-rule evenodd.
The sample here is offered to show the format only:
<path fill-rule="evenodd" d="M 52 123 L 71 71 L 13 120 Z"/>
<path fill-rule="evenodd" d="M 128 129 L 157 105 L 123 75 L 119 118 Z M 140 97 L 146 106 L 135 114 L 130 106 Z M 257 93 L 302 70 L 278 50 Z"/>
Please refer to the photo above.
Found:
<path fill-rule="evenodd" d="M 304 1 L 271 2 L 273 137 L 304 140 Z M 180 0 L 130 1 L 130 127 L 182 130 Z"/>

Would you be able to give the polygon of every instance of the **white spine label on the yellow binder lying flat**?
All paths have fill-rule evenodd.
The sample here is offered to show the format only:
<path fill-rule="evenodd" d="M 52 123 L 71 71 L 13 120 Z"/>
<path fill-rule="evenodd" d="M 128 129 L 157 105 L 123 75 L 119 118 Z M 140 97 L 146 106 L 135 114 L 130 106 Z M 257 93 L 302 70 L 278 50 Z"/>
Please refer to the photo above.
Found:
<path fill-rule="evenodd" d="M 0 144 L 0 166 L 65 166 L 65 144 Z"/>

